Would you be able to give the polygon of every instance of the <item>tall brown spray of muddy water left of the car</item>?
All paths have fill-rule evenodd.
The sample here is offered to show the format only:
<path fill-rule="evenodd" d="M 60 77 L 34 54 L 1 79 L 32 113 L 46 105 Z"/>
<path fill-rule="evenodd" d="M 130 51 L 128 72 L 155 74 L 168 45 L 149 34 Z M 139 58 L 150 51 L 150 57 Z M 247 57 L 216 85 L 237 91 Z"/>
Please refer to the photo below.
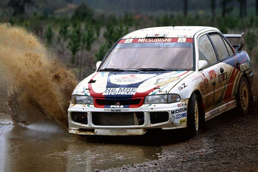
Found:
<path fill-rule="evenodd" d="M 27 125 L 48 119 L 67 127 L 66 110 L 77 81 L 22 27 L 0 24 L 0 79 L 9 89 L 14 122 Z"/>

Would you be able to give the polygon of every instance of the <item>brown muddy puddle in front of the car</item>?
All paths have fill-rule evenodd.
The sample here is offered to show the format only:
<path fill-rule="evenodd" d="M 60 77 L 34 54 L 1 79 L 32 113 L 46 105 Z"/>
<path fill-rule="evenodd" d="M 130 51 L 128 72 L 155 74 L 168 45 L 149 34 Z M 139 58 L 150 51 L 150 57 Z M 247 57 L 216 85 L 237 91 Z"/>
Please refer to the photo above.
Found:
<path fill-rule="evenodd" d="M 159 146 L 87 142 L 51 124 L 24 128 L 2 120 L 0 126 L 0 171 L 95 171 L 154 160 L 161 151 Z"/>

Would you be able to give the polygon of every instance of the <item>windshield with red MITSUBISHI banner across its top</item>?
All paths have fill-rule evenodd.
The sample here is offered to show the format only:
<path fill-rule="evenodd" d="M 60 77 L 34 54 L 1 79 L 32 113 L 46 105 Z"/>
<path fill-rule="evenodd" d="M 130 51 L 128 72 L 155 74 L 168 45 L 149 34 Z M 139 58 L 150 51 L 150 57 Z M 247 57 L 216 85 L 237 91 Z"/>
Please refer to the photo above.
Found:
<path fill-rule="evenodd" d="M 163 39 L 168 42 L 161 42 Z M 156 41 L 156 38 L 122 39 L 109 53 L 99 69 L 192 70 L 192 39 L 188 42 L 186 42 L 186 38 L 180 39 L 183 40 L 182 42 L 179 42 L 179 38 L 163 39 L 160 38 L 159 42 Z"/>

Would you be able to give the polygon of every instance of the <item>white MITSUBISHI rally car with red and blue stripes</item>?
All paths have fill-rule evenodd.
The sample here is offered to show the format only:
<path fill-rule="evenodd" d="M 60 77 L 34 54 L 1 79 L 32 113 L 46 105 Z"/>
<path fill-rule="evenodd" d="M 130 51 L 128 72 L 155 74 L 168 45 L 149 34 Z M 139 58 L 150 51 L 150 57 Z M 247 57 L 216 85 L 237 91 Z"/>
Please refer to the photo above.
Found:
<path fill-rule="evenodd" d="M 231 45 L 230 39 L 238 39 Z M 241 35 L 217 28 L 156 27 L 113 45 L 97 70 L 72 93 L 69 133 L 143 135 L 186 128 L 237 106 L 246 114 L 253 73 Z"/>

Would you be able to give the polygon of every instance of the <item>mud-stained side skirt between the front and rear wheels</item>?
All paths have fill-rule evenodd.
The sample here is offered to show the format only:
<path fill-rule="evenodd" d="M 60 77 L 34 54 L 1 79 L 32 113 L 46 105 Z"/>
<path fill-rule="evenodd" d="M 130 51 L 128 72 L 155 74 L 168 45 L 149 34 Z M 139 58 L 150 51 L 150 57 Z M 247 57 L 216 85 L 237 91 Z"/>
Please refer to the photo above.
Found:
<path fill-rule="evenodd" d="M 214 118 L 214 117 L 218 116 L 219 114 L 222 114 L 223 112 L 233 109 L 234 107 L 236 107 L 236 100 L 232 100 L 232 101 L 225 103 L 215 109 L 212 109 L 211 111 L 205 113 L 205 121 L 208 121 L 211 118 Z"/>

